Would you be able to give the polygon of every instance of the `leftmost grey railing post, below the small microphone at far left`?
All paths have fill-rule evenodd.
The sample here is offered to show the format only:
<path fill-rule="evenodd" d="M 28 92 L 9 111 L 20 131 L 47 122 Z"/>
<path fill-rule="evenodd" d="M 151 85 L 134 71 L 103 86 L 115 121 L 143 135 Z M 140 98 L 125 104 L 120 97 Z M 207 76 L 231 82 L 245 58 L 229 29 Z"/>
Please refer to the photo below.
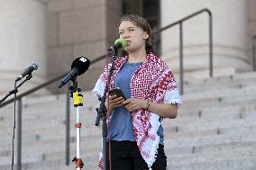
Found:
<path fill-rule="evenodd" d="M 17 170 L 22 170 L 22 98 L 18 99 Z"/>

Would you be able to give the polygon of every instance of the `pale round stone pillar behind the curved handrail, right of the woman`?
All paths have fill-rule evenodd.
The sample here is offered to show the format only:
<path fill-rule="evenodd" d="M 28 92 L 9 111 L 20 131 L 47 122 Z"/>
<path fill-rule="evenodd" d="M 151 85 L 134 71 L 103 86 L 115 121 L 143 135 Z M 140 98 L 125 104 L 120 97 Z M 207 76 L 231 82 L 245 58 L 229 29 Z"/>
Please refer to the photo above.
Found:
<path fill-rule="evenodd" d="M 161 0 L 161 27 L 208 8 L 213 13 L 214 76 L 251 69 L 247 56 L 246 4 L 241 0 Z M 208 15 L 184 22 L 185 78 L 209 76 Z M 179 72 L 178 25 L 162 33 L 162 58 Z"/>

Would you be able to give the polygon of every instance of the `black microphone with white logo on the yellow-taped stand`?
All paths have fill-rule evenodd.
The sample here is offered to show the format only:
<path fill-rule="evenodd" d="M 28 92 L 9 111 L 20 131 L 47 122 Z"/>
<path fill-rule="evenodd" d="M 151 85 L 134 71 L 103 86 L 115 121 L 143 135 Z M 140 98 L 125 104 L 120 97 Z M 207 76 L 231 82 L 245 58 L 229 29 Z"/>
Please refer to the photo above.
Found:
<path fill-rule="evenodd" d="M 72 77 L 84 74 L 88 67 L 90 67 L 90 64 L 91 62 L 88 58 L 76 58 L 71 65 L 71 71 L 69 74 L 60 81 L 59 88 L 66 85 Z"/>

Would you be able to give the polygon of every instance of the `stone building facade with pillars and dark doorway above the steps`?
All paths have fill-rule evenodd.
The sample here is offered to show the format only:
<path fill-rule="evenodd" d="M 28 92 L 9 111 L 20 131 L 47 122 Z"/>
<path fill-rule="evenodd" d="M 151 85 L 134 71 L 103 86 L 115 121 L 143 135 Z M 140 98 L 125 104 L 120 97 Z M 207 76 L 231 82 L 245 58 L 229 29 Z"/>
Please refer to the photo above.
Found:
<path fill-rule="evenodd" d="M 255 0 L 0 0 L 0 94 L 7 94 L 16 76 L 36 62 L 32 80 L 22 91 L 70 70 L 75 58 L 105 55 L 117 38 L 124 13 L 144 16 L 154 31 L 207 8 L 213 14 L 214 76 L 252 69 L 252 37 L 256 35 Z M 183 24 L 186 79 L 209 76 L 208 16 L 202 13 Z M 156 40 L 160 58 L 179 74 L 178 26 L 162 31 Z M 78 77 L 89 90 L 102 73 L 105 60 Z M 59 82 L 40 94 L 61 93 Z"/>

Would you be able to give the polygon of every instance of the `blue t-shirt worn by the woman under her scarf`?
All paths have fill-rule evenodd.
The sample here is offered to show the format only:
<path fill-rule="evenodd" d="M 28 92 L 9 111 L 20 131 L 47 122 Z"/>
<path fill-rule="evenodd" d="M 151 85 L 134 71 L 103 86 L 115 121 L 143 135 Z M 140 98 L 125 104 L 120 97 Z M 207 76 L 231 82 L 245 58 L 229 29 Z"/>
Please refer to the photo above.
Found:
<path fill-rule="evenodd" d="M 114 86 L 119 87 L 127 99 L 131 98 L 130 82 L 133 73 L 142 63 L 129 63 L 125 62 L 114 79 Z M 128 112 L 124 106 L 114 109 L 110 121 L 110 139 L 123 141 L 135 141 L 133 133 L 133 118 L 131 112 Z M 160 136 L 160 144 L 163 145 L 163 129 L 160 125 L 158 130 Z"/>

